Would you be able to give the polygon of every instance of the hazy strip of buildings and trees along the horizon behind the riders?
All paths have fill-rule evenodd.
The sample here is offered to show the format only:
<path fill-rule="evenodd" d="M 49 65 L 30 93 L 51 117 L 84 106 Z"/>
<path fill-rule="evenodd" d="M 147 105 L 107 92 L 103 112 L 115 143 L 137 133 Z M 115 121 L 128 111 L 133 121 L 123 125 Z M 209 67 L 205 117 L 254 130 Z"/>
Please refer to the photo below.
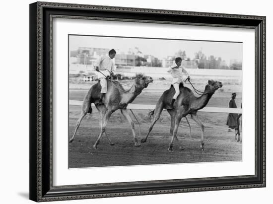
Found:
<path fill-rule="evenodd" d="M 114 48 L 115 49 L 115 48 Z M 70 51 L 69 73 L 82 73 L 94 71 L 96 61 L 102 55 L 108 55 L 108 48 L 89 48 L 79 47 L 77 50 Z M 221 57 L 210 55 L 206 57 L 202 51 L 195 53 L 194 59 L 187 58 L 185 50 L 179 50 L 174 56 L 167 56 L 159 59 L 156 56 L 144 54 L 138 47 L 127 51 L 116 49 L 117 54 L 114 58 L 115 66 L 122 67 L 146 67 L 146 68 L 168 68 L 175 63 L 176 57 L 183 59 L 182 66 L 185 68 L 200 69 L 242 69 L 242 62 L 237 59 L 231 59 L 230 63 L 223 61 Z"/>

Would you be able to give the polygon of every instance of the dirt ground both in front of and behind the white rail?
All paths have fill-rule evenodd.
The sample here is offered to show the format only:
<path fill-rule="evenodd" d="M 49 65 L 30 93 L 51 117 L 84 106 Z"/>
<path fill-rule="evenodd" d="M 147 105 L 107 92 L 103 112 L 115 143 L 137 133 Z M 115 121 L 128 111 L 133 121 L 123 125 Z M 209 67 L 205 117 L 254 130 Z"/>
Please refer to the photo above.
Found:
<path fill-rule="evenodd" d="M 128 81 L 128 84 L 132 81 Z M 205 81 L 196 83 L 199 89 L 204 89 Z M 222 90 L 217 90 L 210 99 L 207 106 L 227 107 L 231 92 L 237 92 L 237 106 L 241 103 L 241 85 L 237 81 L 223 80 Z M 126 82 L 125 82 L 126 83 Z M 237 83 L 237 84 L 236 84 Z M 160 86 L 159 86 L 160 85 Z M 82 100 L 90 84 L 69 84 L 69 99 Z M 168 81 L 156 80 L 150 84 L 134 101 L 136 104 L 155 104 L 164 89 L 169 87 Z M 228 87 L 228 88 L 227 88 Z M 76 120 L 79 117 L 80 106 L 69 106 L 69 135 L 72 136 Z M 138 135 L 136 124 L 136 135 L 140 141 L 146 136 L 150 119 L 147 110 L 134 110 L 141 125 L 141 137 Z M 125 166 L 145 164 L 170 164 L 190 162 L 222 162 L 242 160 L 242 142 L 235 141 L 235 134 L 227 132 L 226 119 L 228 114 L 224 113 L 198 113 L 199 118 L 205 125 L 205 151 L 200 149 L 201 130 L 197 124 L 188 117 L 192 127 L 192 139 L 189 137 L 189 127 L 183 119 L 179 130 L 179 142 L 174 143 L 174 152 L 168 152 L 171 140 L 170 116 L 166 111 L 162 112 L 159 121 L 155 124 L 146 143 L 135 147 L 132 131 L 129 123 L 117 111 L 111 116 L 106 132 L 115 145 L 111 146 L 105 136 L 102 136 L 98 149 L 93 148 L 100 132 L 98 112 L 93 109 L 92 115 L 83 119 L 77 135 L 72 143 L 68 143 L 68 166 L 79 167 L 102 167 L 102 166 Z M 132 119 L 136 121 L 133 116 Z M 183 146 L 185 149 L 180 149 Z"/>

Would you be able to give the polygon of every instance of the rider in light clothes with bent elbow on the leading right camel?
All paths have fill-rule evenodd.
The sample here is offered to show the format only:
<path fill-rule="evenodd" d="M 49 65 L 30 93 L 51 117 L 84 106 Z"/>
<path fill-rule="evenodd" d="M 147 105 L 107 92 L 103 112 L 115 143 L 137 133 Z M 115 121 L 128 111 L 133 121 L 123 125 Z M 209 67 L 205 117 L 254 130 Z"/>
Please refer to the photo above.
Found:
<path fill-rule="evenodd" d="M 180 57 L 175 58 L 175 65 L 171 66 L 170 69 L 168 70 L 168 72 L 170 72 L 173 77 L 172 85 L 175 89 L 175 94 L 174 94 L 172 102 L 171 102 L 171 109 L 174 109 L 173 104 L 174 104 L 177 96 L 180 93 L 179 84 L 184 83 L 183 73 L 185 73 L 187 75 L 187 78 L 190 80 L 190 75 L 185 70 L 185 68 L 181 66 L 181 64 L 182 64 L 182 58 L 180 58 Z"/>

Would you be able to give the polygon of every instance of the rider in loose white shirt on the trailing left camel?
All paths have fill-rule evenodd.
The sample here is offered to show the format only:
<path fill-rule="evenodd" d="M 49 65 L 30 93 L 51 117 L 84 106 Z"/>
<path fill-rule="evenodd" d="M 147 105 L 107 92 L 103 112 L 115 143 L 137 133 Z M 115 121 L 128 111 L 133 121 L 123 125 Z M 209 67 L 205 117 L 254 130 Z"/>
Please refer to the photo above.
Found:
<path fill-rule="evenodd" d="M 113 59 L 116 56 L 114 49 L 110 50 L 108 56 L 101 56 L 96 64 L 96 71 L 98 71 L 98 79 L 100 80 L 101 91 L 99 105 L 102 105 L 102 99 L 107 92 L 107 80 L 106 77 L 113 75 L 115 70 L 115 64 Z"/>

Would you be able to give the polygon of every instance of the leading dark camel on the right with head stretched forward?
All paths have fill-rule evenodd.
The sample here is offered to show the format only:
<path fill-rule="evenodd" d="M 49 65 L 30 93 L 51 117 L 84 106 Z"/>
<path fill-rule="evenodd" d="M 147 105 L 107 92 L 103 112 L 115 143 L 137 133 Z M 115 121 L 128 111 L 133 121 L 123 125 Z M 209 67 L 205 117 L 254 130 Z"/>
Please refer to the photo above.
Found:
<path fill-rule="evenodd" d="M 207 85 L 205 86 L 205 91 L 202 96 L 196 97 L 194 93 L 188 87 L 183 86 L 181 83 L 180 95 L 177 97 L 177 100 L 174 104 L 174 109 L 170 109 L 171 99 L 174 95 L 174 87 L 171 85 L 170 89 L 163 92 L 162 96 L 159 98 L 155 109 L 151 111 L 150 115 L 154 115 L 153 120 L 150 124 L 148 134 L 145 138 L 141 139 L 141 142 L 146 142 L 154 124 L 158 121 L 162 110 L 167 109 L 168 113 L 171 116 L 171 135 L 172 139 L 168 147 L 168 151 L 173 151 L 173 141 L 174 138 L 178 140 L 176 134 L 178 130 L 179 123 L 183 117 L 186 118 L 188 114 L 191 115 L 192 119 L 201 127 L 202 135 L 201 135 L 201 149 L 204 151 L 204 125 L 201 123 L 197 116 L 198 110 L 204 108 L 208 103 L 211 96 L 214 92 L 222 87 L 222 83 L 219 81 L 208 80 Z M 186 118 L 187 119 L 187 118 Z M 183 149 L 183 147 L 181 147 Z"/>

